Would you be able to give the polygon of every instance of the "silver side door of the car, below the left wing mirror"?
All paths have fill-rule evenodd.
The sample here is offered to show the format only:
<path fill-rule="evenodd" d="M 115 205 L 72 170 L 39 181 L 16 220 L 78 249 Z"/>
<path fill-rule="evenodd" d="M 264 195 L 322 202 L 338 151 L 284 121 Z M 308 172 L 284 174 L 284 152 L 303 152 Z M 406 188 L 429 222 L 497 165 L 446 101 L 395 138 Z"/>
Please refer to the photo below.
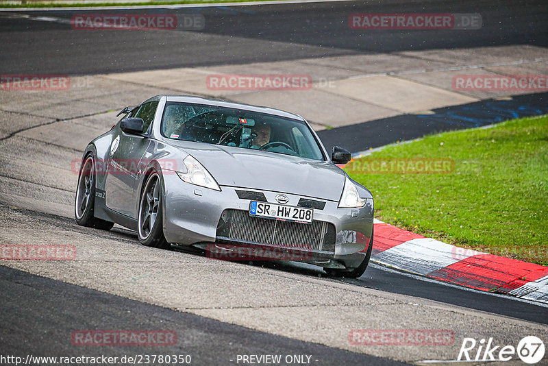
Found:
<path fill-rule="evenodd" d="M 141 173 L 140 160 L 150 143 L 147 131 L 157 107 L 158 101 L 150 101 L 129 114 L 128 117 L 139 117 L 145 122 L 142 134 L 127 134 L 120 130 L 110 148 L 110 169 L 105 183 L 106 206 L 134 219 L 137 217 L 134 191 Z"/>

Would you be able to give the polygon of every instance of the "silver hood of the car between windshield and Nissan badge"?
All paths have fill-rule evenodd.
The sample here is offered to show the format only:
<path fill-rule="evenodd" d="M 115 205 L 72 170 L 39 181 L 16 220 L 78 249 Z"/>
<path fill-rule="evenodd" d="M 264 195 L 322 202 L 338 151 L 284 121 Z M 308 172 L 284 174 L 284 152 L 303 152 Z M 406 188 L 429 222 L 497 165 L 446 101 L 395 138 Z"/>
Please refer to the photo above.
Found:
<path fill-rule="evenodd" d="M 290 193 L 336 202 L 343 193 L 345 173 L 330 162 L 186 141 L 179 147 L 206 167 L 221 186 Z"/>

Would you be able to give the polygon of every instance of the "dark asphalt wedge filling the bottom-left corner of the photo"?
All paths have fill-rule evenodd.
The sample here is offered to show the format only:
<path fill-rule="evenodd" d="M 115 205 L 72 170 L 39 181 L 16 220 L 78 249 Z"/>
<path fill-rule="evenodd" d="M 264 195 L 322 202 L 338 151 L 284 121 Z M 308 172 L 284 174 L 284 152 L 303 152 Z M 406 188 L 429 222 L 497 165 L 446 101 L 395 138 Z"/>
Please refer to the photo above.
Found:
<path fill-rule="evenodd" d="M 177 344 L 157 347 L 159 354 L 192 357 L 192 365 L 228 365 L 238 354 L 307 354 L 315 365 L 406 365 L 386 358 L 295 341 L 241 326 L 160 308 L 100 291 L 0 267 L 1 354 L 124 356 L 143 354 L 136 347 L 77 347 L 68 340 L 73 330 L 162 329 L 177 332 Z M 67 294 L 70 293 L 70 296 Z M 35 299 L 40 301 L 31 301 Z M 26 304 L 21 312 L 21 304 Z M 85 305 L 84 305 L 85 304 Z M 84 306 L 83 306 L 84 305 Z M 77 316 L 75 316 L 75 309 Z M 10 316 L 18 313 L 18 317 Z M 67 319 L 69 318 L 69 319 Z M 32 324 L 32 328 L 21 327 Z M 4 334 L 7 335 L 7 334 Z M 161 353 L 160 353 L 161 352 Z"/>

